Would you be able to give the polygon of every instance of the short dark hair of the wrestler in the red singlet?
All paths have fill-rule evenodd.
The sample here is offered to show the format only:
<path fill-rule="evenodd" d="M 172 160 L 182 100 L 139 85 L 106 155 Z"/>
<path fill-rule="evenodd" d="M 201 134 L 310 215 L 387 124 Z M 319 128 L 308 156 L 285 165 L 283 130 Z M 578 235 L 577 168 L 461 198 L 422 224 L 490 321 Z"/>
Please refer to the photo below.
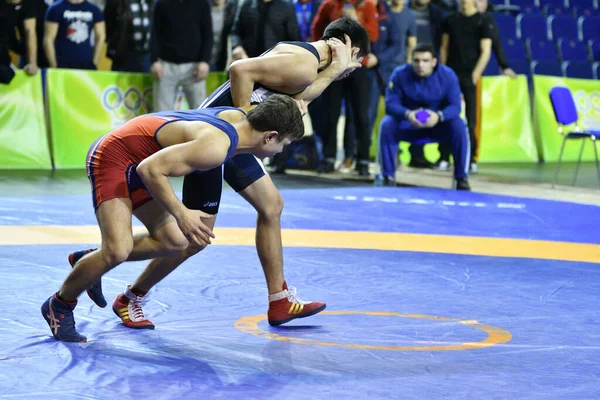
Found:
<path fill-rule="evenodd" d="M 304 121 L 298 104 L 289 96 L 273 94 L 248 112 L 253 129 L 259 132 L 277 131 L 279 142 L 286 138 L 297 140 L 304 136 Z"/>

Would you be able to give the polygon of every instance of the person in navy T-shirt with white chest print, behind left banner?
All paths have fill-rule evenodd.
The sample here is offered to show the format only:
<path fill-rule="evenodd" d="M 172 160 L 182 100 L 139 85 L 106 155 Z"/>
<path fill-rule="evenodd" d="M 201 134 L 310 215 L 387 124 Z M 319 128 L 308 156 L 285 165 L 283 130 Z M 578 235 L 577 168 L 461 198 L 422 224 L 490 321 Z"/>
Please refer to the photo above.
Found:
<path fill-rule="evenodd" d="M 106 39 L 104 16 L 87 0 L 59 0 L 46 12 L 44 50 L 51 68 L 96 69 Z"/>

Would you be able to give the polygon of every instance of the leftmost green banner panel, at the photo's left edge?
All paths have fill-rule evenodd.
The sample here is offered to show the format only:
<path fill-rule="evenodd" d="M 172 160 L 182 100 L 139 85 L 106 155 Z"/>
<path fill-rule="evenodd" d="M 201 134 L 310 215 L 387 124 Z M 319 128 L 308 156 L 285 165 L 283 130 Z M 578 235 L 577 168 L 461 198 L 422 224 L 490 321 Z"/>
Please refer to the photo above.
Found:
<path fill-rule="evenodd" d="M 52 168 L 41 73 L 0 85 L 0 127 L 0 169 Z"/>

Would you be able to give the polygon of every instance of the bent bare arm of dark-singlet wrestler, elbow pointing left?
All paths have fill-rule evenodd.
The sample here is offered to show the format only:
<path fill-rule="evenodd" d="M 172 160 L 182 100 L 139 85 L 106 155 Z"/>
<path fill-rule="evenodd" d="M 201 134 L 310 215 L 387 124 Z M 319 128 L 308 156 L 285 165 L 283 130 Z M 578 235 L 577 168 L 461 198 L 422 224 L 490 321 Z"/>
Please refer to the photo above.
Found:
<path fill-rule="evenodd" d="M 266 55 L 231 64 L 233 104 L 236 107 L 249 106 L 256 83 L 280 91 L 288 89 L 290 93 L 311 85 L 317 79 L 317 60 L 312 54 L 303 53 Z"/>

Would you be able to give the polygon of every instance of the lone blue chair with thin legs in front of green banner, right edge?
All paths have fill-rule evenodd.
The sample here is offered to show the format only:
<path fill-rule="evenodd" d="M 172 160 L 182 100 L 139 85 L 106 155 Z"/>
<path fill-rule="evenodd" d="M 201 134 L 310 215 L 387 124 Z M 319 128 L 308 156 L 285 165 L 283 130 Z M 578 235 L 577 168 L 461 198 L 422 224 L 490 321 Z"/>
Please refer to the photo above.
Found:
<path fill-rule="evenodd" d="M 560 154 L 558 156 L 558 164 L 556 165 L 556 172 L 554 173 L 554 182 L 552 187 L 556 185 L 556 179 L 558 178 L 558 172 L 560 171 L 560 164 L 562 161 L 563 151 L 565 150 L 565 144 L 569 139 L 582 139 L 581 149 L 579 150 L 579 158 L 577 159 L 577 167 L 575 167 L 575 176 L 573 177 L 573 186 L 577 181 L 577 175 L 579 174 L 579 165 L 581 164 L 581 156 L 583 155 L 583 147 L 585 146 L 586 139 L 592 141 L 594 146 L 594 154 L 596 156 L 596 171 L 598 173 L 598 186 L 600 186 L 600 165 L 598 163 L 598 149 L 596 143 L 600 140 L 600 131 L 592 130 L 580 130 L 577 122 L 579 121 L 579 115 L 577 114 L 577 107 L 575 106 L 575 100 L 573 95 L 567 87 L 555 86 L 550 89 L 550 101 L 552 102 L 552 108 L 554 109 L 554 116 L 558 123 L 558 133 L 563 135 L 563 143 L 560 147 Z M 567 133 L 563 132 L 568 125 L 575 124 L 575 130 Z"/>

